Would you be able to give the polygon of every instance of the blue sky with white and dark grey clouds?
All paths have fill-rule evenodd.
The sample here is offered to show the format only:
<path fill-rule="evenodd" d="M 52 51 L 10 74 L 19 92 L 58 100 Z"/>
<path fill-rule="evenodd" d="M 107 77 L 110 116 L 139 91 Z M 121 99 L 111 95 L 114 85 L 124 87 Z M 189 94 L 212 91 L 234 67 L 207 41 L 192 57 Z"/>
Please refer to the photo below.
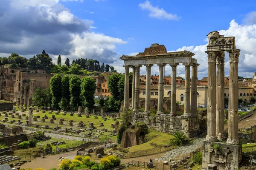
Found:
<path fill-rule="evenodd" d="M 206 35 L 236 36 L 239 75 L 252 77 L 256 60 L 253 0 L 0 0 L 0 57 L 32 57 L 44 49 L 56 61 L 91 58 L 123 71 L 122 54 L 143 52 L 151 43 L 168 51 L 194 52 L 199 78 L 207 76 Z M 228 54 L 225 75 L 228 76 Z M 256 62 L 256 61 L 255 61 Z M 145 74 L 145 68 L 141 68 Z M 158 74 L 158 68 L 152 68 Z M 166 66 L 166 75 L 171 74 Z M 184 75 L 182 65 L 178 74 Z"/>

